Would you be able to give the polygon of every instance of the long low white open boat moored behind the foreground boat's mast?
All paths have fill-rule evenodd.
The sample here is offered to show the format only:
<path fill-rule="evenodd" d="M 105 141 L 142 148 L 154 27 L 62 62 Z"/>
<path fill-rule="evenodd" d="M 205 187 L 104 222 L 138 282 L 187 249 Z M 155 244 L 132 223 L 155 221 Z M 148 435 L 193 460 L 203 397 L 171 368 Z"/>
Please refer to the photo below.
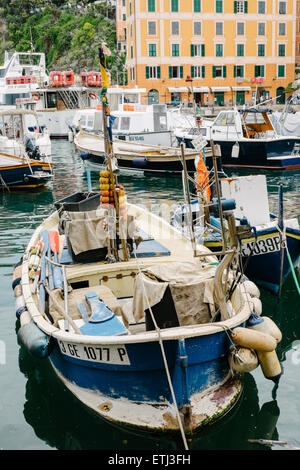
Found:
<path fill-rule="evenodd" d="M 120 169 L 153 173 L 180 173 L 183 169 L 180 147 L 164 147 L 160 145 L 146 145 L 136 142 L 125 142 L 114 138 L 114 155 L 118 160 Z M 202 139 L 201 148 L 206 145 Z M 105 162 L 105 142 L 103 134 L 94 134 L 79 130 L 74 138 L 74 144 L 81 152 L 81 157 L 89 163 L 103 167 Z M 207 153 L 210 150 L 207 149 Z M 195 171 L 195 156 L 199 153 L 197 149 L 185 151 L 187 169 Z"/>

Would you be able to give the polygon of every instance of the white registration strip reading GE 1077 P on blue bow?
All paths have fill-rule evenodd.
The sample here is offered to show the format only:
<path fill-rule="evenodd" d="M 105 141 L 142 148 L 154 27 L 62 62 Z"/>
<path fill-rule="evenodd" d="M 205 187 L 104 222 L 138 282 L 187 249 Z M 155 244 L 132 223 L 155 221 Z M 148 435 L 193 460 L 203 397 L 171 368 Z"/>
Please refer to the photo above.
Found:
<path fill-rule="evenodd" d="M 62 354 L 102 364 L 130 365 L 126 347 L 122 344 L 74 344 L 58 341 Z"/>

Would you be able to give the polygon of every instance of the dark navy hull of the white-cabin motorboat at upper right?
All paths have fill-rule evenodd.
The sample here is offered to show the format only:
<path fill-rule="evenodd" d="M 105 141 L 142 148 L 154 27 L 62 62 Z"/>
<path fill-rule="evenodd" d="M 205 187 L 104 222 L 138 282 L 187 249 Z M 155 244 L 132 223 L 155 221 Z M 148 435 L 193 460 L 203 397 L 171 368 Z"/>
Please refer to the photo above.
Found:
<path fill-rule="evenodd" d="M 184 141 L 187 148 L 193 148 L 192 140 L 188 138 L 178 139 Z M 250 140 L 250 139 L 249 139 Z M 221 148 L 222 166 L 261 168 L 272 170 L 299 169 L 300 156 L 292 155 L 294 145 L 300 143 L 299 138 L 283 137 L 274 140 L 239 141 L 239 155 L 232 157 L 232 147 L 236 140 L 214 139 L 215 145 Z"/>

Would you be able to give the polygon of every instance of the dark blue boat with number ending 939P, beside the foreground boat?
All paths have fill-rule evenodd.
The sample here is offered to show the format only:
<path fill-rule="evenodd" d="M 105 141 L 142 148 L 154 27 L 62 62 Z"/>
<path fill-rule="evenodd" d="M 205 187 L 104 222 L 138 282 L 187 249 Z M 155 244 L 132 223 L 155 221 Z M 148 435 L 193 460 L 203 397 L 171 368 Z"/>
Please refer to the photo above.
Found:
<path fill-rule="evenodd" d="M 279 192 L 278 214 L 269 209 L 265 175 L 249 175 L 221 179 L 224 197 L 236 201 L 234 214 L 239 229 L 250 224 L 251 235 L 241 239 L 240 262 L 244 273 L 255 284 L 280 294 L 281 287 L 300 260 L 300 228 L 297 218 L 284 219 L 282 188 Z M 222 244 L 218 217 L 210 216 L 210 227 L 203 224 L 203 207 L 198 199 L 192 201 L 195 233 L 201 243 L 213 252 Z M 179 205 L 171 224 L 189 236 L 186 206 Z"/>

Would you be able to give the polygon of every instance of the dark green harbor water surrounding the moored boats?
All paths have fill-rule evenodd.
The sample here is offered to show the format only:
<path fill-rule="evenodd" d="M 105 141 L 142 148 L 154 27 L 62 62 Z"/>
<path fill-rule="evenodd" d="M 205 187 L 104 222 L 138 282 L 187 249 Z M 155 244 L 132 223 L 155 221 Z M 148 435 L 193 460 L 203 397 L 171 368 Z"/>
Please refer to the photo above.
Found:
<path fill-rule="evenodd" d="M 18 323 L 11 288 L 14 265 L 20 260 L 33 230 L 54 211 L 53 203 L 87 189 L 84 163 L 74 144 L 52 141 L 54 179 L 36 192 L 0 193 L 0 449 L 4 450 L 150 450 L 181 451 L 179 436 L 133 432 L 92 414 L 54 374 L 48 360 L 34 359 L 17 343 Z M 246 174 L 246 170 L 226 173 Z M 254 173 L 248 171 L 247 174 Z M 99 173 L 92 171 L 93 189 Z M 271 212 L 277 212 L 278 187 L 283 185 L 284 213 L 300 213 L 300 172 L 266 173 Z M 180 177 L 122 173 L 130 202 L 160 210 L 162 203 L 183 201 Z M 299 271 L 296 271 L 299 279 Z M 277 354 L 283 375 L 278 388 L 260 368 L 245 375 L 244 391 L 233 410 L 215 425 L 188 441 L 192 450 L 265 450 L 251 442 L 265 439 L 300 448 L 300 298 L 292 275 L 281 298 L 261 289 L 263 315 L 281 329 Z M 273 447 L 280 448 L 279 446 Z"/>

